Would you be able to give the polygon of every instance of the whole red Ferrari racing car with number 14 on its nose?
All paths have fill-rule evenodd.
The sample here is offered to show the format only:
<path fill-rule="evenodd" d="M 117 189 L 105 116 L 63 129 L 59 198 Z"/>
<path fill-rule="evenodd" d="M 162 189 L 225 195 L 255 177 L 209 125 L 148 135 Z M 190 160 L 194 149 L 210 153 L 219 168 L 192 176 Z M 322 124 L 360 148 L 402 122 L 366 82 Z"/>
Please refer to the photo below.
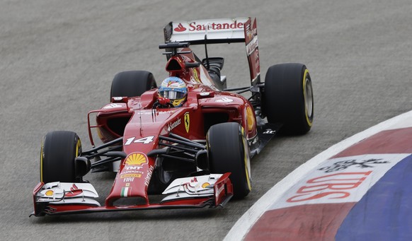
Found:
<path fill-rule="evenodd" d="M 71 131 L 45 136 L 33 215 L 224 206 L 251 191 L 250 158 L 278 131 L 311 128 L 304 64 L 271 66 L 261 82 L 256 19 L 172 22 L 164 34 L 169 78 L 158 88 L 148 71 L 115 75 L 111 102 L 88 113 L 91 150 Z M 227 89 L 224 59 L 207 56 L 208 44 L 231 42 L 246 44 L 251 86 Z M 189 48 L 200 44 L 203 60 Z M 83 180 L 90 171 L 117 172 L 104 204 Z"/>

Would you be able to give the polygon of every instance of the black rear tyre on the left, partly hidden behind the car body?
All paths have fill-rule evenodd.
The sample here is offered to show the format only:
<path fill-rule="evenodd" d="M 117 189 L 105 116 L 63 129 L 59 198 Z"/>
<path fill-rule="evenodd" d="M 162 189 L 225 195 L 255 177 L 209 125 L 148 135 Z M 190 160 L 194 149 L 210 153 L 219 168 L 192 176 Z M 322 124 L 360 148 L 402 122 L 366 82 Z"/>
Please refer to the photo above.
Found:
<path fill-rule="evenodd" d="M 112 97 L 140 96 L 147 90 L 156 88 L 154 76 L 149 71 L 124 71 L 115 75 L 110 90 Z"/>

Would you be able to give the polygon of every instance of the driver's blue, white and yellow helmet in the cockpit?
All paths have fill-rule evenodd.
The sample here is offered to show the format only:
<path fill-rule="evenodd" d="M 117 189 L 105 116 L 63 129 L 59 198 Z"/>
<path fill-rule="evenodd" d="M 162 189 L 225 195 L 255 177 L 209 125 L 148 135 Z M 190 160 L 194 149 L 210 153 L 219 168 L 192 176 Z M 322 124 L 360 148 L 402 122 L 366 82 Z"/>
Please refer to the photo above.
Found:
<path fill-rule="evenodd" d="M 168 98 L 174 107 L 181 107 L 188 95 L 188 88 L 185 82 L 178 77 L 168 77 L 159 87 L 159 96 Z"/>

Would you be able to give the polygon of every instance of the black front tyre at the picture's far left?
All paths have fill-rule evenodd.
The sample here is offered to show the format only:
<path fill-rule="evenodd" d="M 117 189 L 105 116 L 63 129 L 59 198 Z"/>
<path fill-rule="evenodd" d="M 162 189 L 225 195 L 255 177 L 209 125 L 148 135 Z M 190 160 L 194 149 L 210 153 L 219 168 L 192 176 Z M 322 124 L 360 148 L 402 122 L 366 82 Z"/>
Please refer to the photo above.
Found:
<path fill-rule="evenodd" d="M 81 141 L 71 131 L 52 131 L 40 151 L 40 182 L 81 182 L 76 179 L 74 159 L 81 154 Z"/>

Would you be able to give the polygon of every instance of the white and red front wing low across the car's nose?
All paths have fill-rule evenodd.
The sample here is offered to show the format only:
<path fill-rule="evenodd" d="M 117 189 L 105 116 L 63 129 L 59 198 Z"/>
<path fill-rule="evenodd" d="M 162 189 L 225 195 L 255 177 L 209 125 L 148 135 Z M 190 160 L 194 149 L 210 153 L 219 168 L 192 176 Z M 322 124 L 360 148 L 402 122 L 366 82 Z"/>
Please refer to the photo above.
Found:
<path fill-rule="evenodd" d="M 132 211 L 173 208 L 215 208 L 224 206 L 233 196 L 230 172 L 185 177 L 174 180 L 156 204 L 101 206 L 98 193 L 89 183 L 40 182 L 33 190 L 34 212 L 30 216 Z"/>

